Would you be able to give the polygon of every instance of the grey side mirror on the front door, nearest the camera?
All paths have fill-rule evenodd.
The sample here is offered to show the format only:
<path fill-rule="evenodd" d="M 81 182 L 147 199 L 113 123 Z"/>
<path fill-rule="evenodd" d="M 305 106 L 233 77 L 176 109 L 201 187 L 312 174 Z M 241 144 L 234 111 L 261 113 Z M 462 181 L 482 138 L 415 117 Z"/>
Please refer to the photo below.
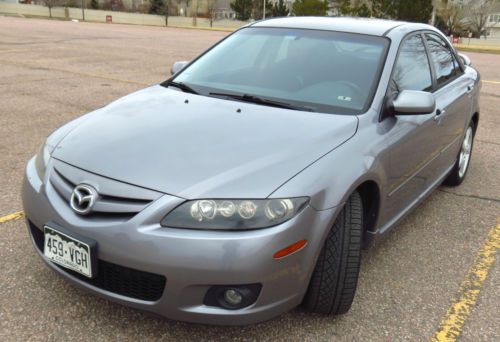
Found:
<path fill-rule="evenodd" d="M 436 100 L 425 91 L 403 90 L 392 101 L 392 107 L 396 115 L 429 114 L 436 109 Z"/>

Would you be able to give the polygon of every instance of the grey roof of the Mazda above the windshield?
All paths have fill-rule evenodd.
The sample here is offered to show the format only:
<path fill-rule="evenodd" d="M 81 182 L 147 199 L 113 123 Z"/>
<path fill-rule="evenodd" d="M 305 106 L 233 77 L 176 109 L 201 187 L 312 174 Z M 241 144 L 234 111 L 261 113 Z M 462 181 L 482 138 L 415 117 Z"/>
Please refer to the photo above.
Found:
<path fill-rule="evenodd" d="M 325 31 L 340 31 L 374 36 L 384 36 L 396 27 L 404 27 L 405 31 L 429 29 L 426 24 L 405 21 L 384 20 L 375 18 L 353 17 L 286 17 L 272 18 L 255 22 L 252 27 L 298 28 Z"/>

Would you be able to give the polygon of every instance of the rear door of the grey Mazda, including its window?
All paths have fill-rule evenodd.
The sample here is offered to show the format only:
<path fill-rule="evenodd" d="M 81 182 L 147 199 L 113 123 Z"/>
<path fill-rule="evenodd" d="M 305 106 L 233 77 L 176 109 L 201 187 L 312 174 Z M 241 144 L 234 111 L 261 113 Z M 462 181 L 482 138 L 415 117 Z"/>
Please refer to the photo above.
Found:
<path fill-rule="evenodd" d="M 434 180 L 455 162 L 461 136 L 472 108 L 473 80 L 464 75 L 457 56 L 449 43 L 435 33 L 426 33 L 426 45 L 435 78 L 436 99 L 435 139 L 440 155 L 433 163 Z M 431 180 L 431 179 L 430 179 Z M 429 184 L 431 186 L 432 180 Z"/>

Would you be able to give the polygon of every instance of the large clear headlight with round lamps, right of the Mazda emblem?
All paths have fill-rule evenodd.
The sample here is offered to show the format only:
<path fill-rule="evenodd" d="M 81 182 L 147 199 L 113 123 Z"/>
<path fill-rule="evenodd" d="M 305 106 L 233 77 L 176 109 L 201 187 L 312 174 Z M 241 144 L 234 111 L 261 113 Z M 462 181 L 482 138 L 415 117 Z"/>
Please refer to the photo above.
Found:
<path fill-rule="evenodd" d="M 172 228 L 224 230 L 272 227 L 294 217 L 308 200 L 308 197 L 299 197 L 188 201 L 165 216 L 161 225 Z"/>

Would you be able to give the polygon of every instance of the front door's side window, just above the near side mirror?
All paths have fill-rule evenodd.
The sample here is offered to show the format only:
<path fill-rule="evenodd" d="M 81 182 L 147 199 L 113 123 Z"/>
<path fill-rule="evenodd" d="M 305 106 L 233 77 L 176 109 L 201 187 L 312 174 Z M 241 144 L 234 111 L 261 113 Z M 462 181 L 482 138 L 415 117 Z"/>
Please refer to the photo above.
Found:
<path fill-rule="evenodd" d="M 391 92 L 432 89 L 431 68 L 420 35 L 407 38 L 401 44 L 398 60 L 392 73 Z"/>

